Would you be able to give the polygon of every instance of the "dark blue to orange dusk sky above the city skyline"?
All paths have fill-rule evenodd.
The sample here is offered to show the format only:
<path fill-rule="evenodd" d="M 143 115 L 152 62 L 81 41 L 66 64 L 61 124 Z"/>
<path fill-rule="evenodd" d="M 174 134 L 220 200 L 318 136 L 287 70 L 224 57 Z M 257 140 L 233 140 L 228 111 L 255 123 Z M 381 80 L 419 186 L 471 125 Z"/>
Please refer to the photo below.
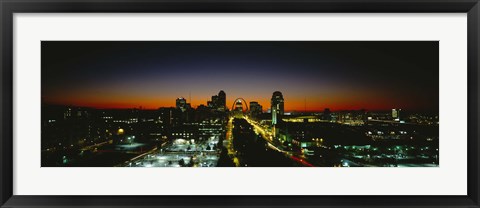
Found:
<path fill-rule="evenodd" d="M 438 112 L 437 41 L 42 41 L 42 103 L 193 107 L 220 90 L 285 111 Z"/>

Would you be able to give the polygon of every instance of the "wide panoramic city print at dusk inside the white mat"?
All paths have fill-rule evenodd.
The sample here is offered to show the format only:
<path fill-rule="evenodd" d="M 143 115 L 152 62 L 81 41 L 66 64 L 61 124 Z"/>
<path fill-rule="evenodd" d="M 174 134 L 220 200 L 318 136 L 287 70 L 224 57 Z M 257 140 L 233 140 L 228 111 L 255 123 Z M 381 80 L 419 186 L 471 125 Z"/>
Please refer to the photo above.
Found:
<path fill-rule="evenodd" d="M 42 41 L 42 167 L 438 167 L 438 41 Z"/>

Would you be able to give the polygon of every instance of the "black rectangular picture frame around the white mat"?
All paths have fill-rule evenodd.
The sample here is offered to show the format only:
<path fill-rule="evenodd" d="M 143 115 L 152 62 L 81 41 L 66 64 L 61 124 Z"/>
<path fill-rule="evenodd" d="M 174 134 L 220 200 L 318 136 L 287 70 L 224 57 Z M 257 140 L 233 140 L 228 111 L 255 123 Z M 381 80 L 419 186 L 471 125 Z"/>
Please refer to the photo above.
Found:
<path fill-rule="evenodd" d="M 0 0 L 1 207 L 480 207 L 478 0 Z M 13 14 L 112 12 L 467 13 L 468 195 L 466 196 L 24 196 L 13 195 Z M 449 179 L 445 179 L 449 180 Z M 254 187 L 252 187 L 254 188 Z M 443 187 L 448 188 L 448 187 Z"/>

